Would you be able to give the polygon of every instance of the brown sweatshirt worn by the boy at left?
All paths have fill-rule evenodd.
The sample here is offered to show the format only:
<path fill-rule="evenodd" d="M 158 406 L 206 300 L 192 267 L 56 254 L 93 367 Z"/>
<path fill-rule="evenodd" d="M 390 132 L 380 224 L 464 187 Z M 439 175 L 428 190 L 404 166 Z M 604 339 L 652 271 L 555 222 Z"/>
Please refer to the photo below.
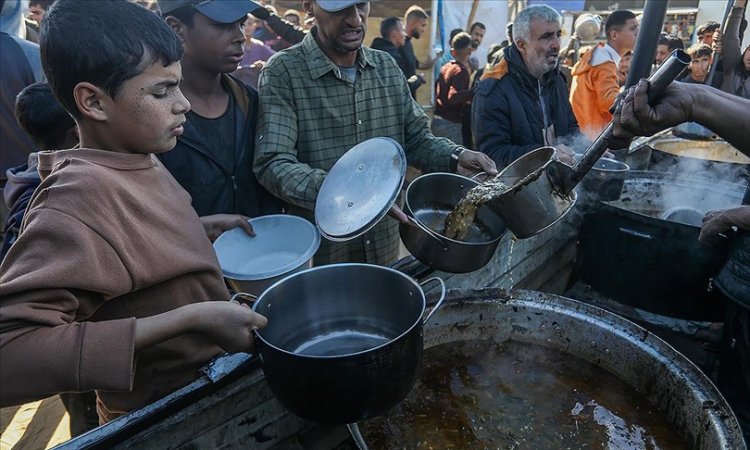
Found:
<path fill-rule="evenodd" d="M 134 353 L 136 318 L 229 298 L 190 196 L 150 154 L 42 152 L 39 172 L 0 266 L 0 403 L 96 389 L 107 420 L 194 380 L 221 352 L 201 336 Z"/>

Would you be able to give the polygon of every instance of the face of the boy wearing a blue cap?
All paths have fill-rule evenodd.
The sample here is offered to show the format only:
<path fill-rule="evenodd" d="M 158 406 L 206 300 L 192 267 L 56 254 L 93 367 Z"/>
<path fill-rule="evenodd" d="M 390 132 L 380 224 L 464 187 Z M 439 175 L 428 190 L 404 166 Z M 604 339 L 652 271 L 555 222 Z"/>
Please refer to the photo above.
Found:
<path fill-rule="evenodd" d="M 185 42 L 183 60 L 208 72 L 234 72 L 242 61 L 245 20 L 243 17 L 226 24 L 196 13 L 193 26 L 184 27 L 181 34 Z"/>

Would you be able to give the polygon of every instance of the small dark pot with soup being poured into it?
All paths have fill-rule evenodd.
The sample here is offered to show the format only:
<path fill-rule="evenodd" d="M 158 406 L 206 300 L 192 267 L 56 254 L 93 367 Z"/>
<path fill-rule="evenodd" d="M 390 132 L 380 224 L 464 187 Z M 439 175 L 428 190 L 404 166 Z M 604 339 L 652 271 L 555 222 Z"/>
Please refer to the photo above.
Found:
<path fill-rule="evenodd" d="M 472 272 L 492 259 L 506 231 L 505 223 L 492 210 L 479 208 L 466 241 L 439 234 L 445 219 L 466 193 L 479 183 L 450 173 L 422 175 L 406 189 L 404 212 L 412 225 L 401 223 L 404 246 L 419 261 L 449 273 Z"/>

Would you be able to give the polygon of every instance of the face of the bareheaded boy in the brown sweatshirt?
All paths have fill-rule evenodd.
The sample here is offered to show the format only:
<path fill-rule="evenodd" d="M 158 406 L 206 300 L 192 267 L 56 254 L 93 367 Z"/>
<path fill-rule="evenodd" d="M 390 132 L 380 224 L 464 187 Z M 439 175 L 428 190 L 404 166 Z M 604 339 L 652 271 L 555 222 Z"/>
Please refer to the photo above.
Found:
<path fill-rule="evenodd" d="M 180 91 L 179 62 L 161 62 L 123 83 L 115 99 L 105 98 L 107 150 L 120 153 L 162 153 L 182 134 L 190 102 Z"/>

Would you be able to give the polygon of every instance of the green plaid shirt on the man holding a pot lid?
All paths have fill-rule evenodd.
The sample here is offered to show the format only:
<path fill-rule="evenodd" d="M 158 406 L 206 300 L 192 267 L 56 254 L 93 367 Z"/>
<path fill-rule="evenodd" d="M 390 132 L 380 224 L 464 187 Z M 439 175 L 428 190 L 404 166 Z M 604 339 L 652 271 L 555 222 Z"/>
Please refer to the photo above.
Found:
<path fill-rule="evenodd" d="M 314 221 L 315 199 L 328 171 L 347 150 L 374 137 L 396 140 L 410 165 L 425 172 L 449 171 L 452 141 L 430 132 L 429 118 L 412 99 L 406 79 L 387 53 L 362 48 L 356 82 L 308 33 L 263 68 L 254 171 L 258 181 Z M 357 186 L 351 186 L 357 189 Z M 368 262 L 387 265 L 398 257 L 398 223 L 386 216 L 348 242 L 323 240 L 315 264 Z"/>

